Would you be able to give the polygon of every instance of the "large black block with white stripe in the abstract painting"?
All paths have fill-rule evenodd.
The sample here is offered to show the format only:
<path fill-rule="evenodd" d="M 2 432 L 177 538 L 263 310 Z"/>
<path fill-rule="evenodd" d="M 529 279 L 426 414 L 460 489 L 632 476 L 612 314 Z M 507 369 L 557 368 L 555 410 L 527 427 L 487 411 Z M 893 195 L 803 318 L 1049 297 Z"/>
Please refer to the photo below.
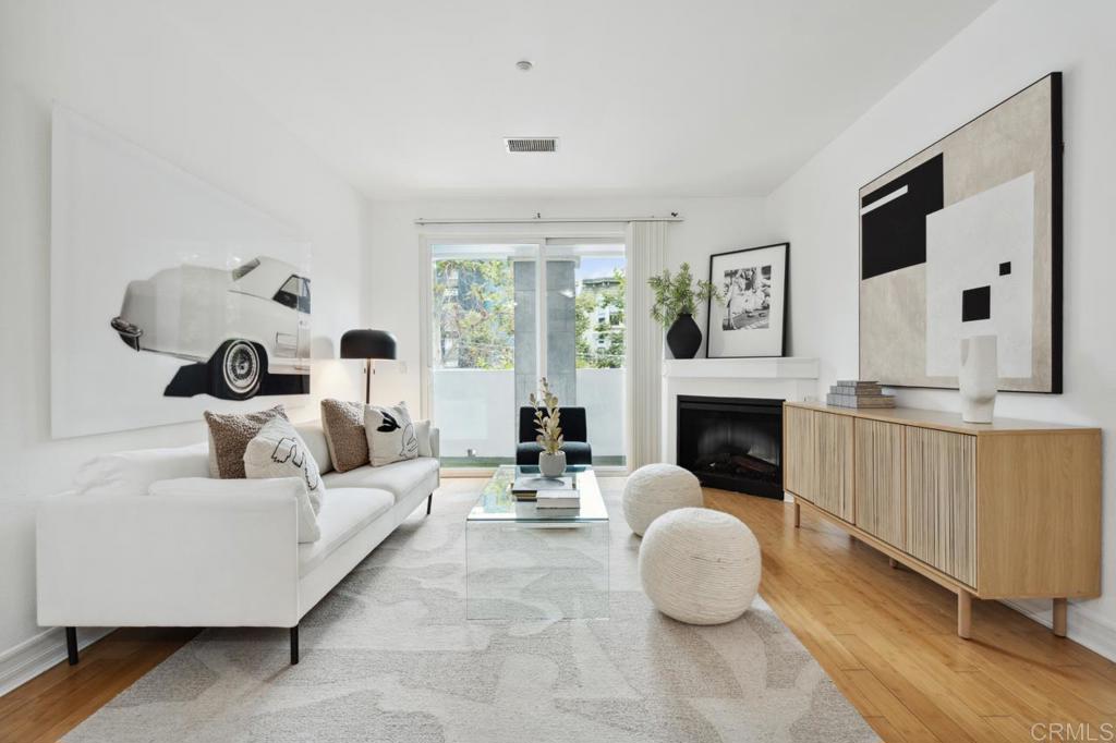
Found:
<path fill-rule="evenodd" d="M 903 186 L 907 191 L 860 215 L 860 278 L 870 279 L 926 262 L 926 215 L 944 205 L 943 156 L 889 181 L 860 200 L 860 208 Z"/>

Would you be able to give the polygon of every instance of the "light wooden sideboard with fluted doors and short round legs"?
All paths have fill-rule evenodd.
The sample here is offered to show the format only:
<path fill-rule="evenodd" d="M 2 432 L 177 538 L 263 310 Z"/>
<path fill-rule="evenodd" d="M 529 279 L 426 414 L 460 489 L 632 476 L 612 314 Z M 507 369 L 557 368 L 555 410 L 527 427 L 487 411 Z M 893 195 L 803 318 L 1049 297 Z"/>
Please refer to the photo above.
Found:
<path fill-rule="evenodd" d="M 936 411 L 783 406 L 783 489 L 894 562 L 972 599 L 1100 595 L 1100 430 Z"/>

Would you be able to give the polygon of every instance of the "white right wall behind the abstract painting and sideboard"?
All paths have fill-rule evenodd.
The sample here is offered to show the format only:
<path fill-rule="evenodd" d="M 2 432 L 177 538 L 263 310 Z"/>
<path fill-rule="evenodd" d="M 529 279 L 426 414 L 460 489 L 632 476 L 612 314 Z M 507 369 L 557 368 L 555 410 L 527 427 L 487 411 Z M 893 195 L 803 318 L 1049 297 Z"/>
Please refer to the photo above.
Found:
<path fill-rule="evenodd" d="M 822 388 L 857 373 L 857 191 L 1051 70 L 1065 73 L 1065 394 L 1000 395 L 997 414 L 1101 426 L 1104 596 L 1070 608 L 1070 636 L 1116 657 L 1116 4 L 1001 0 L 825 147 L 768 201 L 793 244 L 795 351 L 821 358 Z M 958 394 L 901 404 L 959 409 Z M 1051 493 L 1057 498 L 1057 493 Z M 1045 604 L 1022 605 L 1043 620 Z"/>

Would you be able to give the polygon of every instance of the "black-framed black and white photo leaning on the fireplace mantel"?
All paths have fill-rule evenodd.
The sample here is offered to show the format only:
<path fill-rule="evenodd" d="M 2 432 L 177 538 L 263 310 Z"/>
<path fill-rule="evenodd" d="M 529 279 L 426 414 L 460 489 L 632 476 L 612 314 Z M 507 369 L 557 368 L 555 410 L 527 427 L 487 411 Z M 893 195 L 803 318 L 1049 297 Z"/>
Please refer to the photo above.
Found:
<path fill-rule="evenodd" d="M 721 292 L 705 313 L 706 358 L 782 356 L 790 243 L 716 253 L 709 281 Z"/>

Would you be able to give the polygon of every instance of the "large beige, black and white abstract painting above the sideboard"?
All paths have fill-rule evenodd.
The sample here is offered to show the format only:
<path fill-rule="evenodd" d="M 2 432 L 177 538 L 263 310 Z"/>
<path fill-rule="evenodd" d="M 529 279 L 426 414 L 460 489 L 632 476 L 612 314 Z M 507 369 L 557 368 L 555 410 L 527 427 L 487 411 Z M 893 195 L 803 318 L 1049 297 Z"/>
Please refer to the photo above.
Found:
<path fill-rule="evenodd" d="M 1061 392 L 1061 74 L 860 189 L 860 377 L 958 387 L 994 335 L 1001 390 Z"/>

